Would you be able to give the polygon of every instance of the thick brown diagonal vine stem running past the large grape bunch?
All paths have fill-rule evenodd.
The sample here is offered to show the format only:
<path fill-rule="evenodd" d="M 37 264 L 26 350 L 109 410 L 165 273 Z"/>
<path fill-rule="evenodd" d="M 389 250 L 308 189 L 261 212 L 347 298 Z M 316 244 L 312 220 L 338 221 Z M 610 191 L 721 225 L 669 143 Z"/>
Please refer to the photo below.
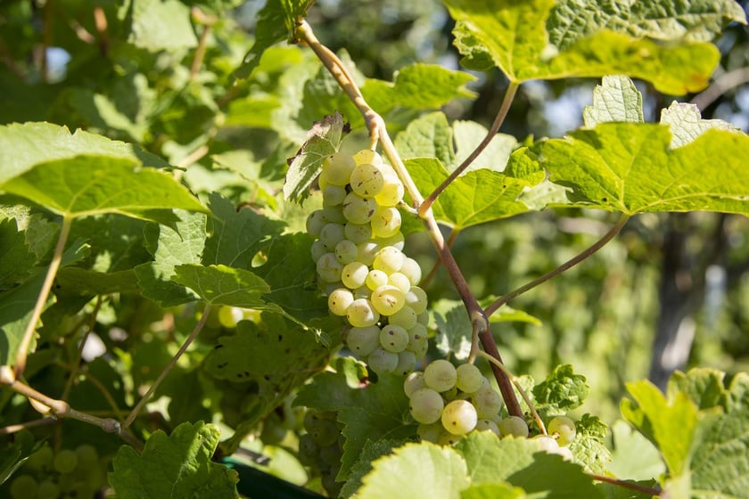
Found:
<path fill-rule="evenodd" d="M 453 285 L 463 300 L 465 309 L 468 312 L 468 317 L 473 326 L 473 345 L 477 345 L 478 342 L 481 341 L 481 345 L 487 353 L 497 359 L 499 363 L 502 363 L 502 357 L 499 356 L 497 344 L 491 336 L 489 319 L 487 318 L 487 315 L 484 314 L 478 301 L 473 297 L 473 293 L 471 293 L 468 283 L 465 282 L 465 277 L 460 272 L 460 268 L 457 266 L 449 246 L 445 244 L 444 237 L 440 232 L 440 227 L 437 225 L 437 221 L 432 215 L 432 209 L 420 209 L 424 202 L 424 198 L 418 188 L 416 188 L 416 184 L 414 184 L 413 179 L 408 174 L 406 166 L 403 164 L 403 160 L 401 160 L 398 151 L 396 151 L 395 145 L 392 143 L 390 135 L 388 135 L 383 118 L 369 106 L 349 71 L 344 67 L 343 62 L 337 55 L 335 55 L 335 53 L 333 53 L 333 51 L 320 43 L 306 20 L 299 21 L 299 26 L 296 29 L 296 37 L 300 42 L 308 45 L 317 55 L 317 58 L 323 63 L 338 85 L 341 86 L 343 92 L 348 95 L 350 101 L 357 107 L 358 111 L 365 119 L 372 143 L 377 143 L 377 141 L 380 142 L 380 145 L 383 148 L 383 153 L 390 161 L 392 168 L 394 168 L 396 173 L 398 173 L 401 182 L 403 182 L 403 186 L 405 187 L 406 192 L 408 192 L 414 208 L 418 211 L 419 216 L 424 221 L 426 232 L 429 234 L 434 248 L 437 249 L 440 259 L 448 271 L 450 280 L 453 282 Z M 520 404 L 517 402 L 517 397 L 514 395 L 512 382 L 507 378 L 505 372 L 498 369 L 496 365 L 491 364 L 491 366 L 494 376 L 497 379 L 499 390 L 502 392 L 502 397 L 505 399 L 508 412 L 522 417 L 523 412 L 521 411 Z"/>

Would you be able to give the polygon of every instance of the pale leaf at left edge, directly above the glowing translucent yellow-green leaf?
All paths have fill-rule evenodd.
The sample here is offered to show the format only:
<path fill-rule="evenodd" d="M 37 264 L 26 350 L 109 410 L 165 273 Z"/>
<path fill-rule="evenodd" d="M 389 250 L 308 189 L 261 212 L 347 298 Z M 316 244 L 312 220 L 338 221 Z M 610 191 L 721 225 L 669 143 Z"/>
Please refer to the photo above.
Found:
<path fill-rule="evenodd" d="M 23 151 L 19 154 L 18 151 Z M 70 134 L 67 127 L 52 123 L 24 123 L 0 127 L 0 185 L 39 163 L 72 159 L 80 155 L 101 155 L 135 160 L 145 167 L 162 168 L 169 164 L 140 147 L 113 141 L 83 130 Z"/>

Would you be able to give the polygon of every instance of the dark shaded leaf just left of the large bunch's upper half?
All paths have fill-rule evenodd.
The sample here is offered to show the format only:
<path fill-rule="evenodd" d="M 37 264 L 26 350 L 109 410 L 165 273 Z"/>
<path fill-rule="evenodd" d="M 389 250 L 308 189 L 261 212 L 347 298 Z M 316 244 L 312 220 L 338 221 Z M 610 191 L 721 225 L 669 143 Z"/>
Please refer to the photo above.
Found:
<path fill-rule="evenodd" d="M 209 195 L 212 217 L 210 237 L 205 241 L 202 263 L 251 268 L 252 258 L 284 229 L 284 223 L 271 220 L 251 209 L 237 210 L 218 192 Z M 185 262 L 187 263 L 187 262 Z"/>

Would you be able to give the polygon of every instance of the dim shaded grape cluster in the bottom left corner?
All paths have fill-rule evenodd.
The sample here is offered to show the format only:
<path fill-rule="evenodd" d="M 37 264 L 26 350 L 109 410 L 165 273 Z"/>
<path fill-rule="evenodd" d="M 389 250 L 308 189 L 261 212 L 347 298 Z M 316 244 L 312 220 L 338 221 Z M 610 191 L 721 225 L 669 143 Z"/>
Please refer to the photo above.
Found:
<path fill-rule="evenodd" d="M 24 474 L 11 482 L 13 499 L 90 499 L 106 483 L 106 466 L 96 448 L 87 444 L 57 454 L 43 446 L 29 456 L 21 470 Z"/>

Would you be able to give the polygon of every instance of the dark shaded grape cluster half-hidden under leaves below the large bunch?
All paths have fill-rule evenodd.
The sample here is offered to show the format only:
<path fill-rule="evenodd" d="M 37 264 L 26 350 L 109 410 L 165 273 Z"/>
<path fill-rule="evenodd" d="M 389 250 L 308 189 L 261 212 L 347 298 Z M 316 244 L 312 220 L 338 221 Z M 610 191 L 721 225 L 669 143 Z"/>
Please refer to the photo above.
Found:
<path fill-rule="evenodd" d="M 299 460 L 305 466 L 319 472 L 323 488 L 331 497 L 338 497 L 343 484 L 335 481 L 341 470 L 343 443 L 342 424 L 336 421 L 337 413 L 304 414 L 304 429 L 307 433 L 299 438 Z"/>

